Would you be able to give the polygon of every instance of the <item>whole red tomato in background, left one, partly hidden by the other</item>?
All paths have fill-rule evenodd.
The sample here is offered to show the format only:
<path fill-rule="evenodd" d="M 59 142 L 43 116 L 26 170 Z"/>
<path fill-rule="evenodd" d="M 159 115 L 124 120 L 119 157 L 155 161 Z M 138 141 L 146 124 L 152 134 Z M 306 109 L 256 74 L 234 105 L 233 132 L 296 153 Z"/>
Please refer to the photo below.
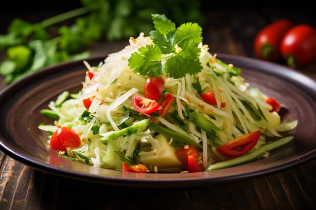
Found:
<path fill-rule="evenodd" d="M 281 19 L 262 28 L 254 38 L 253 48 L 261 59 L 276 61 L 281 59 L 280 43 L 284 34 L 293 27 L 286 19 Z"/>

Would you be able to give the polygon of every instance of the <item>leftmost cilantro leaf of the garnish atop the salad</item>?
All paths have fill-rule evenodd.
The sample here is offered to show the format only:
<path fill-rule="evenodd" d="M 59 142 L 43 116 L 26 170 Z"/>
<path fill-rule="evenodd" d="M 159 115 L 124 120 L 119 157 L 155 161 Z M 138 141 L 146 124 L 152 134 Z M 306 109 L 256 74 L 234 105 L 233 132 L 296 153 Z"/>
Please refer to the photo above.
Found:
<path fill-rule="evenodd" d="M 128 66 L 142 76 L 160 77 L 163 65 L 162 52 L 156 45 L 146 45 L 134 52 L 128 59 Z"/>

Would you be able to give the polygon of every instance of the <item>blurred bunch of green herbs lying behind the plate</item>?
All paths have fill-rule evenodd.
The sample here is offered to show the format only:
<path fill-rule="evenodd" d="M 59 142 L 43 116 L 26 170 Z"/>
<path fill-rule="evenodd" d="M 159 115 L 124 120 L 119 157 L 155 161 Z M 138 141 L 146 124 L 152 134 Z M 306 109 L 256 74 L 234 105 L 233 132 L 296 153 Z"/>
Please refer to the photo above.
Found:
<path fill-rule="evenodd" d="M 8 33 L 0 35 L 0 50 L 7 58 L 0 63 L 0 75 L 7 84 L 39 69 L 89 56 L 87 49 L 102 40 L 119 40 L 149 33 L 150 14 L 166 14 L 176 24 L 205 22 L 198 1 L 182 0 L 81 0 L 82 8 L 39 23 L 14 19 Z M 62 25 L 66 20 L 74 24 Z"/>

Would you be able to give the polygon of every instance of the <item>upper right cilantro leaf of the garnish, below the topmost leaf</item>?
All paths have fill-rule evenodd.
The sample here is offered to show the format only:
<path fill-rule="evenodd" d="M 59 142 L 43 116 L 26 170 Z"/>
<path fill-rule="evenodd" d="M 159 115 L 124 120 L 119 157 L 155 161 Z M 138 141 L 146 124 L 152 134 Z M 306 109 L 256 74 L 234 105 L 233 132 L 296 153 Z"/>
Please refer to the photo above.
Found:
<path fill-rule="evenodd" d="M 197 23 L 184 23 L 177 28 L 175 43 L 183 47 L 185 42 L 200 43 L 203 39 L 202 28 Z"/>

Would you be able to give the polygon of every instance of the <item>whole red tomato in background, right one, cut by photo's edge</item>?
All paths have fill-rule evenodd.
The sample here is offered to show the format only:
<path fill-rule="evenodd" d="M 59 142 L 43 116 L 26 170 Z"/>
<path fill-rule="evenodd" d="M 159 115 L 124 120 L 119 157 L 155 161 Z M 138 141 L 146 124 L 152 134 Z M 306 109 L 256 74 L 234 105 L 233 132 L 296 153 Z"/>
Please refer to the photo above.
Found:
<path fill-rule="evenodd" d="M 281 41 L 281 54 L 292 66 L 304 66 L 316 59 L 316 29 L 297 25 L 289 30 Z"/>

